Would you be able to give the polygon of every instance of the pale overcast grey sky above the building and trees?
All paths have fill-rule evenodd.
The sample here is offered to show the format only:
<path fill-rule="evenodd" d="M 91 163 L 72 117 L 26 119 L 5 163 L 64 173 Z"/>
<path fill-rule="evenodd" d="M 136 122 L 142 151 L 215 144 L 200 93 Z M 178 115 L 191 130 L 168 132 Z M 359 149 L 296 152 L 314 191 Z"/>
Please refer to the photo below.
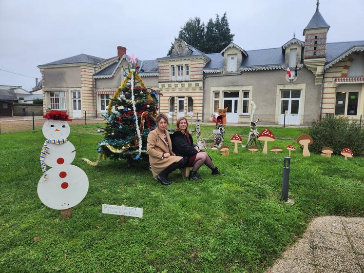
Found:
<path fill-rule="evenodd" d="M 319 9 L 327 42 L 364 40 L 364 0 L 320 0 Z M 305 40 L 315 10 L 316 0 L 0 0 L 0 85 L 29 91 L 37 65 L 81 53 L 107 59 L 118 45 L 141 60 L 164 57 L 187 20 L 224 12 L 238 46 L 281 47 L 294 33 Z"/>

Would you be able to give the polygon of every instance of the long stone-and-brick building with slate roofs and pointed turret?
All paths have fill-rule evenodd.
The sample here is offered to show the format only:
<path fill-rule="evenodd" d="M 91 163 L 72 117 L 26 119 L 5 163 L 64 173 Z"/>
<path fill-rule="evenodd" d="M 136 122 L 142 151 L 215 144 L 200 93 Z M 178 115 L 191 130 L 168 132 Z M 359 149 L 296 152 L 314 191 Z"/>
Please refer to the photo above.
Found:
<path fill-rule="evenodd" d="M 309 123 L 322 115 L 359 119 L 364 114 L 364 41 L 327 43 L 330 26 L 316 11 L 303 30 L 277 48 L 246 51 L 230 43 L 205 54 L 178 39 L 170 56 L 138 60 L 144 84 L 158 91 L 160 112 L 212 120 L 228 108 L 227 121 L 254 118 L 277 124 Z M 101 117 L 128 67 L 126 48 L 102 59 L 77 55 L 39 65 L 44 111 Z M 289 67 L 291 77 L 288 76 Z"/>

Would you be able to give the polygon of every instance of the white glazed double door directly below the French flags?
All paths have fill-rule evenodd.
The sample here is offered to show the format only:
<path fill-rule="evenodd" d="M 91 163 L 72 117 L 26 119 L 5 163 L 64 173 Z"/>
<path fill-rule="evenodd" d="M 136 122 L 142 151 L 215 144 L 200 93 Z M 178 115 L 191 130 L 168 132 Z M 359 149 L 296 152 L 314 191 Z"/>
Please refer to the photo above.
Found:
<path fill-rule="evenodd" d="M 301 123 L 301 90 L 281 90 L 279 100 L 278 123 L 300 125 Z M 286 121 L 285 121 L 286 113 Z"/>

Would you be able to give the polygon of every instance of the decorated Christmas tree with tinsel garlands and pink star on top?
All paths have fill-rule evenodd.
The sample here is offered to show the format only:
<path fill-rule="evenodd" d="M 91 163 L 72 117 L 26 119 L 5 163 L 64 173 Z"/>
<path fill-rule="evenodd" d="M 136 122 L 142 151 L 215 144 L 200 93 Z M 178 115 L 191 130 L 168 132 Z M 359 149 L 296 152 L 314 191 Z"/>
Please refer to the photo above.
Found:
<path fill-rule="evenodd" d="M 90 165 L 98 165 L 101 158 L 133 160 L 148 159 L 147 137 L 155 127 L 158 100 L 155 91 L 146 88 L 138 75 L 144 68 L 137 65 L 134 54 L 124 81 L 117 88 L 104 114 L 104 139 L 98 142 L 96 162 L 83 158 Z"/>

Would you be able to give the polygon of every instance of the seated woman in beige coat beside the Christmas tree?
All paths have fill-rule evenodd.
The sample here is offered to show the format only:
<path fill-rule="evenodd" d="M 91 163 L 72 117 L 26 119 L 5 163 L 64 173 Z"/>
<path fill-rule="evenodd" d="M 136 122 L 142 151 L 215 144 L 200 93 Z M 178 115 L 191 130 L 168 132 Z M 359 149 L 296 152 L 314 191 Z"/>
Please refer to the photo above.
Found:
<path fill-rule="evenodd" d="M 180 169 L 184 165 L 184 158 L 176 156 L 172 152 L 172 141 L 168 131 L 168 118 L 159 114 L 156 119 L 157 128 L 148 135 L 147 154 L 153 177 L 163 185 L 171 185 L 168 179 L 169 173 Z"/>

